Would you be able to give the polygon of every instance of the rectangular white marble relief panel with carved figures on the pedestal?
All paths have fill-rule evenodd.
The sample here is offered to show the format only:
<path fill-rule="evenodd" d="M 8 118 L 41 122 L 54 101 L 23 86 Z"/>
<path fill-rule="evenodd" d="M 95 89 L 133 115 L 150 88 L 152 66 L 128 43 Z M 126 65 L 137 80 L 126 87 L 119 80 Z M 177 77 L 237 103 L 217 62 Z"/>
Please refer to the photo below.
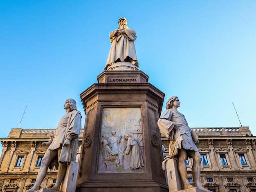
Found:
<path fill-rule="evenodd" d="M 103 108 L 98 173 L 145 172 L 142 129 L 140 107 Z"/>

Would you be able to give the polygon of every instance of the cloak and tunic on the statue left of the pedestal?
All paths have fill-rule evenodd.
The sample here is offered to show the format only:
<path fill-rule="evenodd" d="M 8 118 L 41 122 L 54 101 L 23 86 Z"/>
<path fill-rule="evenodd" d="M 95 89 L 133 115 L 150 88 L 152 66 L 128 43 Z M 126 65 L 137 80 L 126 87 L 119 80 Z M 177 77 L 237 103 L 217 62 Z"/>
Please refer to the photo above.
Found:
<path fill-rule="evenodd" d="M 61 147 L 61 154 L 58 161 L 61 163 L 75 161 L 80 131 L 81 113 L 73 110 L 65 114 L 59 121 L 55 134 L 51 139 L 52 143 L 47 150 L 56 150 Z M 70 140 L 70 146 L 63 145 L 66 139 Z"/>

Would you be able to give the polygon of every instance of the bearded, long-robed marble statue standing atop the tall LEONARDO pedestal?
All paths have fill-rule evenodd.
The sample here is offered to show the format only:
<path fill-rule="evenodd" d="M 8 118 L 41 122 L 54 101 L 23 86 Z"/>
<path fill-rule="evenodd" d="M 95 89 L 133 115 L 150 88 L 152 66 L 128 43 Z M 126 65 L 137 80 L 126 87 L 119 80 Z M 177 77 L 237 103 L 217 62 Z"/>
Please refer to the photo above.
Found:
<path fill-rule="evenodd" d="M 118 20 L 118 28 L 110 32 L 110 42 L 112 43 L 105 70 L 112 64 L 126 61 L 139 67 L 134 40 L 137 38 L 135 30 L 127 26 L 126 18 L 122 17 Z"/>

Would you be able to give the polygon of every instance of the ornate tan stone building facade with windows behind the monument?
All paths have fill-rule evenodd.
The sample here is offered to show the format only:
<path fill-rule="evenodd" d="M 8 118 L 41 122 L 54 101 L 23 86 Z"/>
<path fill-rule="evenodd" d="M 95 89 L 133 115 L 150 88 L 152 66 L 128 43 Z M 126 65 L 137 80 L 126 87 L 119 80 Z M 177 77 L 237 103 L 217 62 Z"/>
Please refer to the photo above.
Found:
<path fill-rule="evenodd" d="M 202 157 L 202 185 L 215 192 L 256 192 L 256 137 L 249 127 L 192 128 L 199 136 L 198 150 Z M 11 129 L 1 138 L 0 188 L 2 192 L 24 192 L 31 188 L 47 150 L 41 143 L 48 141 L 55 129 Z M 83 129 L 79 136 L 82 143 Z M 162 136 L 168 152 L 169 141 Z M 193 183 L 191 165 L 187 160 L 189 181 Z M 52 188 L 57 170 L 48 169 L 42 185 Z"/>

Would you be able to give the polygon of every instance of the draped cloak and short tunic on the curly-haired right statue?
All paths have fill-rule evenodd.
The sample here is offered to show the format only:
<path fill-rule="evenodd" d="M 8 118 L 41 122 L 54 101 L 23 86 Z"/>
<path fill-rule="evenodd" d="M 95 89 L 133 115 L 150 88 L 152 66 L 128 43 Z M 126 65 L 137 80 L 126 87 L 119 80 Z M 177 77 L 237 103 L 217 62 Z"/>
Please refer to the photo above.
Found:
<path fill-rule="evenodd" d="M 178 129 L 174 129 L 174 125 L 178 125 Z M 167 109 L 159 118 L 157 125 L 161 132 L 170 140 L 169 155 L 176 156 L 178 150 L 182 147 L 186 150 L 198 151 L 198 148 L 193 141 L 191 129 L 185 119 L 185 116 L 180 112 L 172 109 Z"/>

